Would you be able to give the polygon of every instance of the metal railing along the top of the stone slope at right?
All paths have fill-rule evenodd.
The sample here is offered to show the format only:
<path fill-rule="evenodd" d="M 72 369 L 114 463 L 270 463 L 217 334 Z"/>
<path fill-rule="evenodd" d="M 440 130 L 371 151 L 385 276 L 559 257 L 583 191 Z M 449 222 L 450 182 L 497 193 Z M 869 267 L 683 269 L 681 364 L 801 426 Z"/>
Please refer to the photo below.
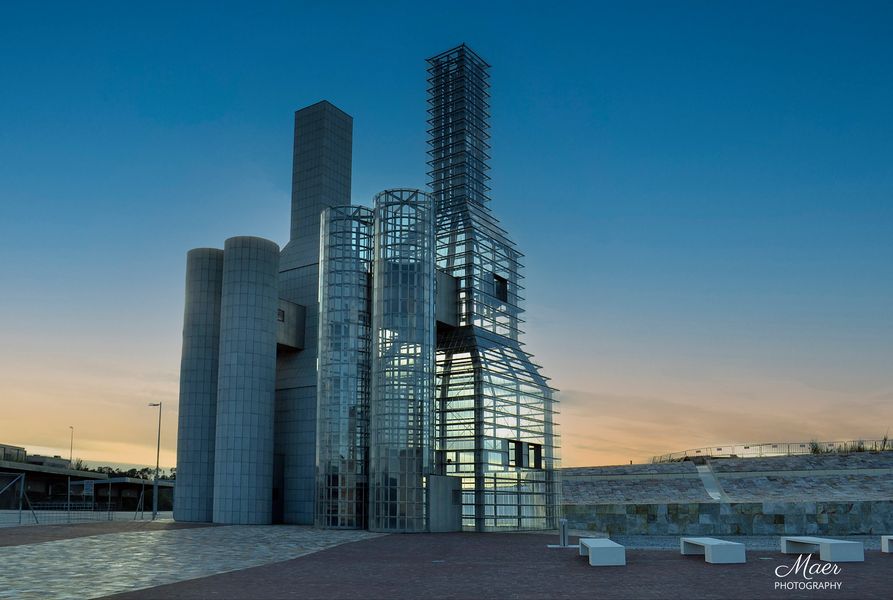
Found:
<path fill-rule="evenodd" d="M 850 452 L 882 452 L 893 450 L 893 440 L 844 440 L 837 442 L 769 442 L 759 444 L 724 444 L 692 448 L 661 454 L 652 463 L 678 462 L 687 458 L 759 458 L 796 454 L 846 454 Z"/>

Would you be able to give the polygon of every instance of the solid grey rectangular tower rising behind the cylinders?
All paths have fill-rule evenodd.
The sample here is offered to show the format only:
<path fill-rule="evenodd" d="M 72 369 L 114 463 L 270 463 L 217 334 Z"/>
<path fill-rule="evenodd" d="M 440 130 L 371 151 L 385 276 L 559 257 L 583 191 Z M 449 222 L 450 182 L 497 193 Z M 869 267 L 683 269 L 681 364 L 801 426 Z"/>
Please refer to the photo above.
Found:
<path fill-rule="evenodd" d="M 279 295 L 306 307 L 304 348 L 276 365 L 273 520 L 313 523 L 320 213 L 350 204 L 353 118 L 327 101 L 295 113 L 291 239 L 280 258 Z"/>

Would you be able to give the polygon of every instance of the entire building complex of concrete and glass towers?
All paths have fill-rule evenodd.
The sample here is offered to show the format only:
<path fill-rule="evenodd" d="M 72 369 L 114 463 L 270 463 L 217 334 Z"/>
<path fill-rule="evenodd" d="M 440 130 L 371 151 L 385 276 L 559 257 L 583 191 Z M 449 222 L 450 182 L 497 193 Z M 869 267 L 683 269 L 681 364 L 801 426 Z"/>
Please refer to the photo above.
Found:
<path fill-rule="evenodd" d="M 489 206 L 489 65 L 465 45 L 428 65 L 429 192 L 352 206 L 353 120 L 323 101 L 295 113 L 282 252 L 233 238 L 190 254 L 177 519 L 556 525 L 553 390 L 520 341 L 522 255 Z"/>

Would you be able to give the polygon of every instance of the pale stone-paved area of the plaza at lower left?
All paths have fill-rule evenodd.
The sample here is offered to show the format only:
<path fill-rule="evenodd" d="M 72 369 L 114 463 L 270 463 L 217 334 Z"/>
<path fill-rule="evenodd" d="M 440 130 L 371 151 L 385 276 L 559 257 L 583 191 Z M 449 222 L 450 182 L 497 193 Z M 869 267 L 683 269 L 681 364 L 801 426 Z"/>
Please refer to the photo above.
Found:
<path fill-rule="evenodd" d="M 101 524 L 0 530 L 0 540 L 12 541 L 0 547 L 0 598 L 98 598 L 290 560 L 380 535 L 296 526 L 107 525 L 106 531 L 115 525 L 119 531 L 82 535 L 85 527 L 101 531 Z M 66 527 L 67 539 L 40 540 L 42 535 L 64 536 Z M 36 542 L 27 543 L 29 537 Z"/>

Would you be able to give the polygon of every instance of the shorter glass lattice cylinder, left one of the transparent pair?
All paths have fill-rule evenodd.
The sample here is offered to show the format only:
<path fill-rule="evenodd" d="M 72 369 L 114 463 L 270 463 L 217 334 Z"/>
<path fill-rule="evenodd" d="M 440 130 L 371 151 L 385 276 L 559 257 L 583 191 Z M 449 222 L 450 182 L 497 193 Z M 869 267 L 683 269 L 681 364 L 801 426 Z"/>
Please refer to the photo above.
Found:
<path fill-rule="evenodd" d="M 316 525 L 366 528 L 372 211 L 320 217 Z"/>

